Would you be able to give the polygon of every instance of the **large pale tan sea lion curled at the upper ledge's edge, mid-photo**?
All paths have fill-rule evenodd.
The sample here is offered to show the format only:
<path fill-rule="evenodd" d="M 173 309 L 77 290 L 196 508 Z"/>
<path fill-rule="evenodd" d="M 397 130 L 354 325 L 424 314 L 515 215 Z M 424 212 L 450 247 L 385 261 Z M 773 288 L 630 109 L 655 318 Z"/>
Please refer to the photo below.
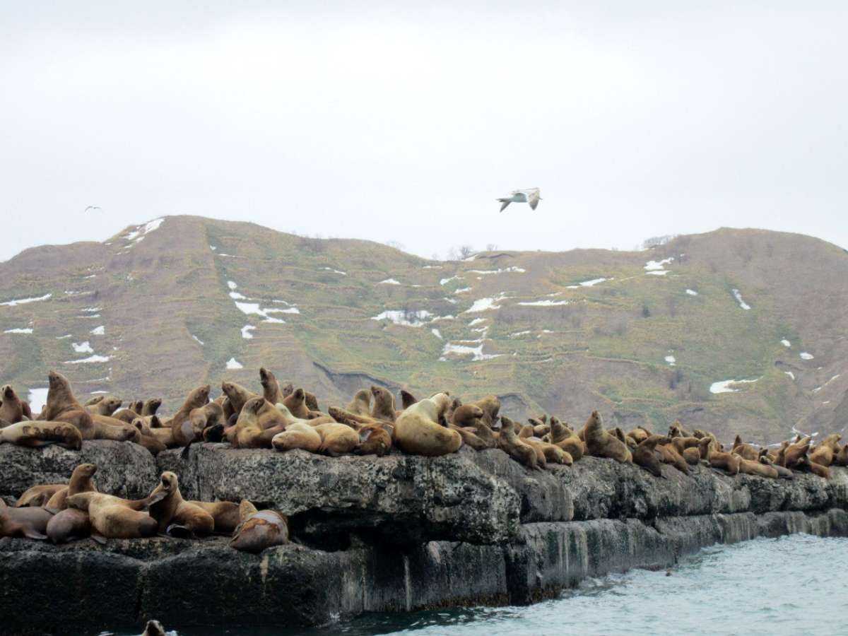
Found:
<path fill-rule="evenodd" d="M 436 393 L 401 411 L 394 422 L 395 443 L 410 455 L 433 457 L 455 453 L 462 445 L 462 438 L 441 424 L 449 404 L 446 393 Z"/>

